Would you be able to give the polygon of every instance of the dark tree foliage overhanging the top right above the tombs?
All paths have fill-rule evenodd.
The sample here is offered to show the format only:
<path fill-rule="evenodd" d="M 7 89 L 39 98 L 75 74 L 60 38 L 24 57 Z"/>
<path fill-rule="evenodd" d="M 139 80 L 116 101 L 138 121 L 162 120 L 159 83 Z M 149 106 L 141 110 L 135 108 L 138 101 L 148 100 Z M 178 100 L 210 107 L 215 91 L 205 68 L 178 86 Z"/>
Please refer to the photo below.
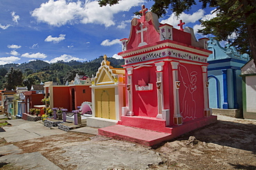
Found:
<path fill-rule="evenodd" d="M 120 0 L 100 0 L 100 6 L 113 6 Z M 196 0 L 153 0 L 152 12 L 158 17 L 166 14 L 167 10 L 176 12 L 188 11 L 196 5 Z M 217 18 L 210 21 L 201 21 L 205 26 L 200 32 L 212 34 L 217 40 L 229 41 L 231 45 L 238 45 L 242 52 L 249 51 L 256 65 L 256 0 L 199 0 L 202 8 L 210 6 L 217 8 Z M 229 37 L 237 34 L 237 39 Z M 246 45 L 248 43 L 248 45 Z M 250 49 L 248 49 L 250 47 Z"/>

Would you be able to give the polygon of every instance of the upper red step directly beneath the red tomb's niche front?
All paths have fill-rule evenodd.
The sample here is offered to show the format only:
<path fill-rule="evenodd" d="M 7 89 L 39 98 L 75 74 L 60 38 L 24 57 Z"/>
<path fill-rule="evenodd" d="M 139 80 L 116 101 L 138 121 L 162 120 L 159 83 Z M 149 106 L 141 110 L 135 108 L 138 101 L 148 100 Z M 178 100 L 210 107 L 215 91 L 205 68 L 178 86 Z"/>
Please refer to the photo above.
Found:
<path fill-rule="evenodd" d="M 166 127 L 166 121 L 159 118 L 151 118 L 146 116 L 121 116 L 121 120 L 118 121 L 118 125 L 138 127 L 140 129 L 148 129 L 172 134 L 172 128 Z"/>

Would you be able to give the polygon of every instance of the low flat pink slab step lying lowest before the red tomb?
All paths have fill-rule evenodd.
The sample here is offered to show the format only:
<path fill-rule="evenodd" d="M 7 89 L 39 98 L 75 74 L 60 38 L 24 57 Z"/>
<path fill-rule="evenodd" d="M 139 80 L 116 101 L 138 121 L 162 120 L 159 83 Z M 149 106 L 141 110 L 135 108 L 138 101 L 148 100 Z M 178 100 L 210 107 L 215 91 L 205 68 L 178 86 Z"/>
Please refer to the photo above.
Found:
<path fill-rule="evenodd" d="M 156 145 L 172 138 L 172 134 L 134 127 L 126 127 L 123 125 L 100 128 L 98 129 L 98 134 L 118 140 L 136 142 L 146 146 Z"/>

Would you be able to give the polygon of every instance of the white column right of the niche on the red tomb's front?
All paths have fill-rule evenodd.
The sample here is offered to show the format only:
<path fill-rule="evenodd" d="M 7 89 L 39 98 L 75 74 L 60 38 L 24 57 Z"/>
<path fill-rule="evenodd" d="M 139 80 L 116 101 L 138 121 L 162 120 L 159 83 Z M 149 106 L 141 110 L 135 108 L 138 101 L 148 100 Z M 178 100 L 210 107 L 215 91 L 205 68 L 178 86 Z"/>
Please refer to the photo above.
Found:
<path fill-rule="evenodd" d="M 157 102 L 158 102 L 158 115 L 156 118 L 163 119 L 163 65 L 165 62 L 155 63 L 156 65 L 156 87 L 157 87 Z"/>

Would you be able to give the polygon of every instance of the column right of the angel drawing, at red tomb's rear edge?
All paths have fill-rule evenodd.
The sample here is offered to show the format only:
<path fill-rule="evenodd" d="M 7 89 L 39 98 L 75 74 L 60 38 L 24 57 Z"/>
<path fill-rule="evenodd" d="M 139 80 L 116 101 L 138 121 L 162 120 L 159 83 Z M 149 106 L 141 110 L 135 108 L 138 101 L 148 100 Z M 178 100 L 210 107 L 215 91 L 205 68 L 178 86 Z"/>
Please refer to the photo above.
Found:
<path fill-rule="evenodd" d="M 209 94 L 208 94 L 208 78 L 207 78 L 207 65 L 202 65 L 202 71 L 203 71 L 203 116 L 209 117 L 211 116 L 211 110 L 209 108 Z"/>

